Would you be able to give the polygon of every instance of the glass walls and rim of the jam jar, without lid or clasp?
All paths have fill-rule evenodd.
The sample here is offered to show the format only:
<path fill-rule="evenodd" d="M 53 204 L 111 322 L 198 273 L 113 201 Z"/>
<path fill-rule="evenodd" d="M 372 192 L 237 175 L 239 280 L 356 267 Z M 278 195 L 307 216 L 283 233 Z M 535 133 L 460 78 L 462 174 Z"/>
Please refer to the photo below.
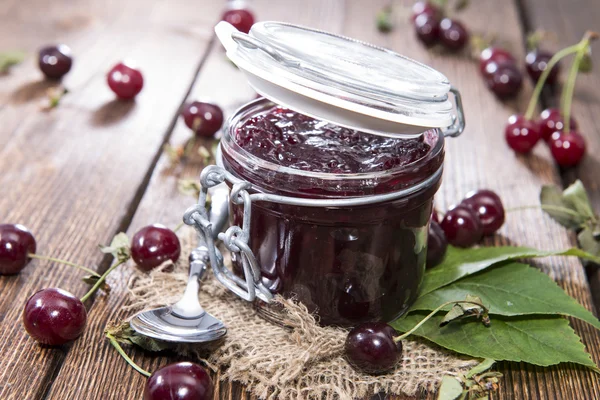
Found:
<path fill-rule="evenodd" d="M 273 294 L 300 300 L 325 325 L 397 318 L 416 299 L 425 271 L 432 199 L 444 159 L 441 131 L 424 133 L 430 149 L 409 165 L 362 174 L 315 173 L 260 159 L 234 140 L 249 118 L 274 106 L 261 99 L 242 107 L 221 140 L 219 165 L 250 182 L 251 193 L 331 200 L 398 195 L 350 206 L 253 202 L 249 245 L 263 284 Z M 230 215 L 232 225 L 243 224 L 243 206 L 232 204 Z M 240 273 L 239 257 L 233 262 Z"/>

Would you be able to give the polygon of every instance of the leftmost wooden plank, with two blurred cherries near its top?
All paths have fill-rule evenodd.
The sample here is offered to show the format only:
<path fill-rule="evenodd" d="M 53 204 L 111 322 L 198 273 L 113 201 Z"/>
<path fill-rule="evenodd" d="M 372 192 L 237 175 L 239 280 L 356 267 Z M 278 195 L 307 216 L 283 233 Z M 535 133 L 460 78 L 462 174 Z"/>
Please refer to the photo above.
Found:
<path fill-rule="evenodd" d="M 209 41 L 210 30 L 180 23 L 194 10 L 184 0 L 0 5 L 0 48 L 32 53 L 0 77 L 0 221 L 27 225 L 40 254 L 107 267 L 97 244 L 131 219 Z M 209 17 L 195 22 L 208 26 Z M 64 82 L 71 93 L 44 113 L 38 102 L 48 85 L 33 54 L 53 42 L 69 44 L 75 62 Z M 115 101 L 105 83 L 106 71 L 123 58 L 136 60 L 146 79 L 131 103 Z M 82 295 L 87 285 L 80 276 L 33 261 L 20 275 L 0 279 L 0 398 L 45 396 L 69 346 L 36 345 L 21 326 L 22 307 L 43 287 Z"/>

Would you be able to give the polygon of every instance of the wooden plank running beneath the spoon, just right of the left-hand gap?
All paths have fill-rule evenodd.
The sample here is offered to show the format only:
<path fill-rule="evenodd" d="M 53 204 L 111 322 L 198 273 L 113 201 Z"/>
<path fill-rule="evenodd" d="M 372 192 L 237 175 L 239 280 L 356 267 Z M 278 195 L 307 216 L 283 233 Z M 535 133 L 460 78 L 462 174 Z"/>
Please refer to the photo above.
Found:
<path fill-rule="evenodd" d="M 342 3 L 335 1 L 325 4 L 318 0 L 274 3 L 261 0 L 254 1 L 252 7 L 262 20 L 283 20 L 339 30 L 343 18 Z M 210 7 L 221 6 L 220 3 L 217 4 Z M 218 14 L 214 13 L 214 15 Z M 200 71 L 189 100 L 210 99 L 219 104 L 227 116 L 240 105 L 252 100 L 254 96 L 255 92 L 247 85 L 244 76 L 226 60 L 221 45 L 216 43 Z M 171 143 L 182 144 L 189 137 L 190 130 L 183 121 L 178 120 Z M 204 144 L 209 147 L 207 142 Z M 150 184 L 128 228 L 128 233 L 131 235 L 140 227 L 155 222 L 176 226 L 181 221 L 183 212 L 196 201 L 178 192 L 177 181 L 179 178 L 197 179 L 202 167 L 202 163 L 194 158 L 183 168 L 173 169 L 170 168 L 168 158 L 163 155 L 158 161 Z M 103 337 L 104 327 L 108 322 L 127 316 L 121 308 L 127 301 L 129 276 L 131 270 L 123 268 L 115 271 L 110 277 L 109 283 L 112 289 L 110 295 L 103 297 L 92 306 L 89 316 L 90 328 L 81 340 L 74 343 L 47 399 L 141 398 L 145 378 L 130 368 Z M 134 348 L 128 348 L 127 352 L 148 370 L 156 370 L 159 366 L 176 359 L 172 355 L 150 355 Z M 93 374 L 90 371 L 93 371 Z M 215 379 L 218 378 L 215 376 Z M 78 384 L 72 385 L 71 382 L 78 382 Z M 215 398 L 254 399 L 240 385 L 221 382 L 218 389 Z"/>

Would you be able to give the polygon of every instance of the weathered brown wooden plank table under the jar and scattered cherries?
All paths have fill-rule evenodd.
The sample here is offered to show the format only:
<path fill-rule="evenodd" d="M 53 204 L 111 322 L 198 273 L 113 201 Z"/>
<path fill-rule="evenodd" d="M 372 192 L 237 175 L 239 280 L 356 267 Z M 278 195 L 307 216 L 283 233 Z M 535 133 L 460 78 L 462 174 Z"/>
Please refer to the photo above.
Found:
<path fill-rule="evenodd" d="M 402 3 L 408 7 L 409 1 Z M 597 0 L 477 0 L 460 18 L 474 32 L 495 32 L 523 58 L 525 32 L 546 28 L 558 35 L 556 49 L 579 40 L 588 28 L 600 30 Z M 505 121 L 524 110 L 531 85 L 511 102 L 498 101 L 484 86 L 477 65 L 466 56 L 431 52 L 414 38 L 405 17 L 394 32 L 377 32 L 374 16 L 383 0 L 303 0 L 252 2 L 261 20 L 281 20 L 339 32 L 394 49 L 444 72 L 465 101 L 467 129 L 449 140 L 444 183 L 436 197 L 445 209 L 470 189 L 498 191 L 507 207 L 536 204 L 542 184 L 584 181 L 600 210 L 600 72 L 581 77 L 575 115 L 588 143 L 578 167 L 559 171 L 548 150 L 538 146 L 528 157 L 515 156 L 504 143 Z M 85 264 L 98 271 L 111 259 L 98 250 L 119 231 L 133 233 L 161 222 L 175 226 L 193 203 L 177 191 L 177 180 L 194 178 L 202 168 L 191 160 L 170 168 L 165 143 L 183 143 L 189 130 L 178 118 L 188 99 L 208 98 L 228 113 L 254 96 L 241 73 L 230 65 L 212 27 L 219 1 L 70 0 L 0 2 L 0 50 L 22 49 L 31 56 L 0 76 L 0 221 L 28 226 L 41 254 Z M 35 52 L 63 42 L 75 54 L 64 84 L 70 89 L 61 105 L 42 112 L 39 101 L 49 84 L 41 80 Z M 595 52 L 596 67 L 600 51 Z M 106 71 L 121 59 L 135 60 L 145 87 L 131 103 L 114 100 Z M 546 96 L 546 103 L 555 102 Z M 487 244 L 518 243 L 543 249 L 566 248 L 574 236 L 539 211 L 510 214 L 500 234 Z M 539 262 L 565 290 L 589 309 L 600 273 L 575 259 Z M 110 295 L 89 304 L 89 325 L 72 345 L 35 344 L 20 323 L 23 304 L 36 289 L 59 286 L 82 295 L 88 288 L 71 268 L 33 261 L 18 276 L 0 278 L 0 399 L 138 399 L 144 378 L 120 359 L 103 339 L 105 325 L 123 317 L 130 272 L 119 269 L 109 279 Z M 595 298 L 600 304 L 600 296 Z M 583 343 L 600 362 L 600 335 L 572 321 Z M 154 370 L 175 359 L 137 349 L 129 353 Z M 494 398 L 597 399 L 600 379 L 572 366 L 538 368 L 500 364 L 505 373 Z M 217 384 L 218 398 L 250 398 L 237 385 Z M 431 398 L 432 395 L 424 394 Z"/>

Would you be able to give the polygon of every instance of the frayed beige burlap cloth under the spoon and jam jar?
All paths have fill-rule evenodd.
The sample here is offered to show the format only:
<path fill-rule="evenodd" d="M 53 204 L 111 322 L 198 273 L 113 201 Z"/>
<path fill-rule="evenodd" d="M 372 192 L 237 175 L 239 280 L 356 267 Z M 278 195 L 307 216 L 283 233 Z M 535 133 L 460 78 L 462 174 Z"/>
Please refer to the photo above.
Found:
<path fill-rule="evenodd" d="M 146 274 L 135 269 L 129 282 L 127 309 L 138 311 L 176 302 L 188 278 L 188 255 L 195 245 L 191 229 L 180 235 L 182 253 L 174 266 Z M 237 298 L 212 273 L 201 284 L 200 302 L 228 328 L 223 343 L 211 353 L 202 347 L 178 347 L 198 357 L 222 379 L 245 384 L 263 399 L 354 399 L 379 392 L 414 395 L 435 390 L 442 376 L 464 373 L 477 363 L 422 341 L 405 340 L 402 361 L 387 375 L 371 376 L 352 369 L 343 358 L 347 331 L 320 327 L 299 303 L 279 302 L 289 328 L 259 316 L 253 305 Z"/>

